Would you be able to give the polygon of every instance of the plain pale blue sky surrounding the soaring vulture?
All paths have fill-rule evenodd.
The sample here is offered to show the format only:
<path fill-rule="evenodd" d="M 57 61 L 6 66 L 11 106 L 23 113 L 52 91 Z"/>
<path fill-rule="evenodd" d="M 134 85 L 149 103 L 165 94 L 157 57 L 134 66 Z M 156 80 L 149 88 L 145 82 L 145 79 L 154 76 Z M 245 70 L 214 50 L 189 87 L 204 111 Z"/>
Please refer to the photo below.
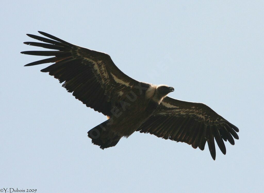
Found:
<path fill-rule="evenodd" d="M 263 1 L 1 1 L 0 189 L 37 192 L 263 190 Z M 113 148 L 87 131 L 106 120 L 44 59 L 20 54 L 44 31 L 108 53 L 136 80 L 167 84 L 239 128 L 227 154 L 135 132 Z"/>

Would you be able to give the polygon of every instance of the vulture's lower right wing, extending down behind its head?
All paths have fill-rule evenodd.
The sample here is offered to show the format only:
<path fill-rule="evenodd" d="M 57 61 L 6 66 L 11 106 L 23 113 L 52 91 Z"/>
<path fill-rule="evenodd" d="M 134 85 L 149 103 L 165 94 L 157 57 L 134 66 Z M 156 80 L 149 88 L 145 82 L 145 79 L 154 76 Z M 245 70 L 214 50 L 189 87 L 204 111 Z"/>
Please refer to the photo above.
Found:
<path fill-rule="evenodd" d="M 238 128 L 203 103 L 192 103 L 164 98 L 154 114 L 137 130 L 157 137 L 185 142 L 193 148 L 204 150 L 207 141 L 215 160 L 215 143 L 226 153 L 223 140 L 234 145 L 238 139 Z M 233 137 L 232 137 L 233 136 Z"/>

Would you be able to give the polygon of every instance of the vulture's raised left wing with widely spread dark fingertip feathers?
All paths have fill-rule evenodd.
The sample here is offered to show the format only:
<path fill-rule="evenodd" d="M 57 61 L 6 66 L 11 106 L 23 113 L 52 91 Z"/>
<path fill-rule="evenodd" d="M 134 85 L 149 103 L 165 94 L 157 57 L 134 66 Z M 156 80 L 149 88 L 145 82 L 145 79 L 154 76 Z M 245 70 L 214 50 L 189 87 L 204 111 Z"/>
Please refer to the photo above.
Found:
<path fill-rule="evenodd" d="M 73 92 L 73 96 L 87 107 L 111 116 L 111 104 L 115 103 L 120 95 L 139 84 L 119 70 L 108 54 L 70 44 L 41 31 L 39 33 L 50 39 L 27 34 L 45 43 L 24 43 L 58 51 L 21 52 L 37 56 L 54 56 L 25 66 L 54 63 L 41 72 L 49 72 L 49 75 L 59 79 L 60 83 L 64 82 L 62 86 L 68 92 Z"/>

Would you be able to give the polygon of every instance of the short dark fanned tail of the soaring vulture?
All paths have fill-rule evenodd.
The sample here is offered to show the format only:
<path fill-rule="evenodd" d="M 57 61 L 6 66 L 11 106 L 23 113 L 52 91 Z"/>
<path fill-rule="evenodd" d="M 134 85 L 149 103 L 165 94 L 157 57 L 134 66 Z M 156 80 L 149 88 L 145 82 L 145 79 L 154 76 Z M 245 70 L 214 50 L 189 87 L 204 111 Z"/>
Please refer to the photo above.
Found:
<path fill-rule="evenodd" d="M 92 139 L 92 143 L 99 145 L 101 149 L 115 146 L 121 139 L 120 136 L 111 132 L 107 123 L 109 120 L 97 125 L 88 131 L 88 137 Z"/>

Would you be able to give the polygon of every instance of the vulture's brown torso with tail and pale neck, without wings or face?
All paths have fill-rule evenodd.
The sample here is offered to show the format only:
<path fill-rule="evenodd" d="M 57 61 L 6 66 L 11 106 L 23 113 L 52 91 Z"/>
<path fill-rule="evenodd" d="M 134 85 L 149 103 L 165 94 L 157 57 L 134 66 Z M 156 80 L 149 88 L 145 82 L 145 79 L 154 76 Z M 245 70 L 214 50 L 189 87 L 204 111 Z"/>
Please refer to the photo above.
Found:
<path fill-rule="evenodd" d="M 113 105 L 109 119 L 88 132 L 92 142 L 104 149 L 113 146 L 121 137 L 133 134 L 160 105 L 164 94 L 157 96 L 155 93 L 161 86 L 168 87 L 142 83 L 128 94 L 120 95 L 120 102 Z"/>

